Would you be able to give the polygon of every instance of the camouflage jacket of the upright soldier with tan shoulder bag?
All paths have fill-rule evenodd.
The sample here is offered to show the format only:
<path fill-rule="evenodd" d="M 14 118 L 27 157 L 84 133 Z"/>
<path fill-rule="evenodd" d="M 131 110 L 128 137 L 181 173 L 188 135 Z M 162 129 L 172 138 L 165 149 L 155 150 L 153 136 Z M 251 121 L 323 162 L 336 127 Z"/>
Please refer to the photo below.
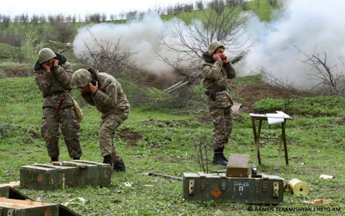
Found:
<path fill-rule="evenodd" d="M 63 55 L 59 53 L 55 54 L 57 55 L 59 64 L 58 66 L 51 68 L 51 72 L 46 71 L 38 60 L 34 66 L 35 81 L 44 97 L 43 108 L 53 107 L 56 109 L 62 94 L 66 94 L 58 83 L 65 90 L 70 91 L 72 89 L 73 70 L 71 65 Z M 72 95 L 72 93 L 70 94 Z M 65 95 L 61 108 L 67 106 L 73 106 L 73 101 L 68 95 Z"/>

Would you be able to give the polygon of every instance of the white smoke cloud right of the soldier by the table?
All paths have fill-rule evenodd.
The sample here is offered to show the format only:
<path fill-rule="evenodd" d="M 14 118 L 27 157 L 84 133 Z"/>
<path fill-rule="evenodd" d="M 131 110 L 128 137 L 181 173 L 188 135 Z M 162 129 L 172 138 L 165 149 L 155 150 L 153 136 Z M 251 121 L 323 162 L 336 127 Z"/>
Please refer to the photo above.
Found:
<path fill-rule="evenodd" d="M 300 60 L 308 55 L 327 53 L 328 63 L 337 63 L 345 55 L 344 0 L 287 0 L 278 20 L 259 22 L 255 17 L 247 26 L 251 53 L 237 67 L 239 75 L 265 68 L 281 81 L 307 90 L 318 82 L 312 80 L 311 67 Z"/>

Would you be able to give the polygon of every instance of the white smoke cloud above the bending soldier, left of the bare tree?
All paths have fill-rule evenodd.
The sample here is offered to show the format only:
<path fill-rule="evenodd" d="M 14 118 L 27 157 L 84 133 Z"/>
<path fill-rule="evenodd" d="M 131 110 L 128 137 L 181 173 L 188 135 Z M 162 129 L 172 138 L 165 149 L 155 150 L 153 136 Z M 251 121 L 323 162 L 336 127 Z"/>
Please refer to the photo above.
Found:
<path fill-rule="evenodd" d="M 98 42 L 112 41 L 116 43 L 119 41 L 120 52 L 134 53 L 138 51 L 138 54 L 131 58 L 132 61 L 135 61 L 136 66 L 148 72 L 166 75 L 173 70 L 173 67 L 158 60 L 158 56 L 167 57 L 172 61 L 176 58 L 176 53 L 159 44 L 160 36 L 170 41 L 174 35 L 173 26 L 175 24 L 175 19 L 165 22 L 158 14 L 152 13 L 146 15 L 143 20 L 134 20 L 127 24 L 103 23 L 86 26 L 78 31 L 74 39 L 74 54 L 76 57 L 82 57 L 85 52 L 87 53 L 85 44 L 91 51 L 98 50 L 99 45 L 96 44 L 94 38 L 97 38 Z"/>

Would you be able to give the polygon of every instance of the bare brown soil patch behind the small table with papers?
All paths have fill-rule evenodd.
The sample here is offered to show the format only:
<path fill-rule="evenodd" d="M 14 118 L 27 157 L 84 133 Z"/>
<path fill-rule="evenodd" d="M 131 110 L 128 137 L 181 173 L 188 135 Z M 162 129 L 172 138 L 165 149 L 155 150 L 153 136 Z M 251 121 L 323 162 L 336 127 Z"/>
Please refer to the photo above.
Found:
<path fill-rule="evenodd" d="M 250 113 L 254 110 L 254 103 L 262 98 L 291 98 L 294 93 L 282 89 L 280 87 L 270 86 L 265 83 L 258 84 L 248 84 L 246 86 L 239 86 L 237 84 L 231 83 L 231 91 L 235 93 L 237 97 L 243 98 L 241 101 L 236 101 L 242 103 L 241 112 Z"/>

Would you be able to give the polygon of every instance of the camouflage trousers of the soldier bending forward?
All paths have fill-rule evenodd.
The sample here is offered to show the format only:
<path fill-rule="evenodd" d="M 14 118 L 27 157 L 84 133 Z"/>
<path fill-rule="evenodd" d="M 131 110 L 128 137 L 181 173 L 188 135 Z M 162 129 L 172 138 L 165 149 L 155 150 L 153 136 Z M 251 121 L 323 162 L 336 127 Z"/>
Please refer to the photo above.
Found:
<path fill-rule="evenodd" d="M 101 127 L 98 131 L 99 145 L 101 147 L 101 155 L 107 156 L 112 155 L 112 162 L 116 163 L 121 159 L 118 154 L 115 144 L 114 136 L 117 127 L 128 119 L 129 112 L 123 113 L 111 113 L 102 119 Z"/>

